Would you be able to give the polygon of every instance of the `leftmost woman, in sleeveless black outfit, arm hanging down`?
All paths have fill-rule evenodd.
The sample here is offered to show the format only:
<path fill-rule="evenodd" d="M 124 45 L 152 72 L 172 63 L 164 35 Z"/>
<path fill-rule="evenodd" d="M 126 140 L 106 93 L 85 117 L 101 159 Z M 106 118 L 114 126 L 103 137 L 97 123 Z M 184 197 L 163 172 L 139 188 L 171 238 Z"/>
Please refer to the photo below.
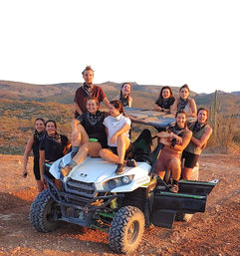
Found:
<path fill-rule="evenodd" d="M 40 177 L 40 169 L 39 169 L 39 143 L 40 140 L 45 135 L 45 122 L 43 119 L 36 119 L 34 122 L 35 131 L 33 135 L 28 139 L 25 152 L 24 152 L 24 159 L 23 159 L 23 177 L 27 177 L 28 171 L 27 171 L 27 163 L 28 163 L 28 157 L 33 149 L 33 156 L 34 156 L 34 164 L 33 164 L 33 171 L 35 175 L 35 179 L 37 182 L 37 188 L 38 191 L 41 192 L 44 189 L 44 184 L 41 181 Z"/>

